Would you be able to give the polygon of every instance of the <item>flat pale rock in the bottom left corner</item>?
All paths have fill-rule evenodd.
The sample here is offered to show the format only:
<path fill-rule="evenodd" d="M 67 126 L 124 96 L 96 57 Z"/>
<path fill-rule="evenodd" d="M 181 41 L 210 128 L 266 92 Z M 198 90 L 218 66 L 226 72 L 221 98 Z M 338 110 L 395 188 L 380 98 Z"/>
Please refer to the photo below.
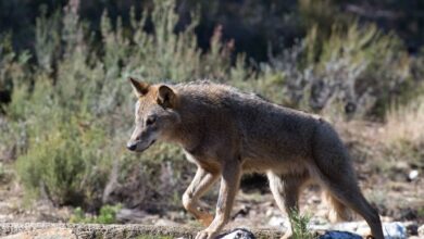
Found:
<path fill-rule="evenodd" d="M 46 228 L 30 231 L 23 231 L 10 236 L 2 237 L 3 239 L 76 239 L 76 235 L 70 228 Z"/>

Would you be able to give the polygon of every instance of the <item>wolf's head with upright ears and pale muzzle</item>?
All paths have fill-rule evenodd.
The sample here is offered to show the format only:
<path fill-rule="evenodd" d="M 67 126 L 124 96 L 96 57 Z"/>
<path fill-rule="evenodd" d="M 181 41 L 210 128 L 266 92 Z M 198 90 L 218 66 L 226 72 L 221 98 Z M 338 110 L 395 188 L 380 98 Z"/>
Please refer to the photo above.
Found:
<path fill-rule="evenodd" d="M 134 78 L 129 81 L 138 100 L 135 129 L 126 147 L 130 151 L 142 152 L 157 140 L 166 138 L 179 123 L 175 111 L 178 99 L 170 86 L 149 85 Z"/>

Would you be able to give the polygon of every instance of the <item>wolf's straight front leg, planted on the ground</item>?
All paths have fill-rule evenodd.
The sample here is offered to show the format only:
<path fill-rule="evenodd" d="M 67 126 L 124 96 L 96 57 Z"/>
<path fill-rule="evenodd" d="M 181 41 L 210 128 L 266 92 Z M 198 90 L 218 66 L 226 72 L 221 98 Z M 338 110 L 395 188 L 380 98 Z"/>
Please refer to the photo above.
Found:
<path fill-rule="evenodd" d="M 241 166 L 238 161 L 225 162 L 223 165 L 220 196 L 216 203 L 215 218 L 211 225 L 200 231 L 196 239 L 213 239 L 229 219 L 234 199 L 236 197 L 241 176 Z"/>

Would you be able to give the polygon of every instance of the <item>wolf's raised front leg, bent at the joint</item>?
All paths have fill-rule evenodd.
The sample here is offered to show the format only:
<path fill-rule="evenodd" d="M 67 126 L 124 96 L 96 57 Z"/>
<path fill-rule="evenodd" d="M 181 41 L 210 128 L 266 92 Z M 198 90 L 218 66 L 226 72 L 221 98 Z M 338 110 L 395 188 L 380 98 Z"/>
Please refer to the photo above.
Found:
<path fill-rule="evenodd" d="M 219 176 L 219 174 L 212 174 L 198 167 L 195 178 L 183 194 L 184 207 L 199 219 L 203 226 L 209 226 L 213 221 L 213 216 L 199 209 L 198 201 L 216 181 Z"/>

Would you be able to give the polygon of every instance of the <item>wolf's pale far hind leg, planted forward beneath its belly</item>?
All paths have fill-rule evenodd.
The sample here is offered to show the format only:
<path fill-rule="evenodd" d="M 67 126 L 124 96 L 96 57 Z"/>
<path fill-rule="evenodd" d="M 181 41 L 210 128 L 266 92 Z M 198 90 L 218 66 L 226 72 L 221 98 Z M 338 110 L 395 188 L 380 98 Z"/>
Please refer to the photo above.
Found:
<path fill-rule="evenodd" d="M 271 192 L 282 212 L 286 212 L 290 222 L 289 228 L 282 239 L 290 238 L 292 235 L 292 217 L 299 213 L 299 193 L 302 186 L 308 181 L 308 175 L 290 175 L 282 177 L 274 172 L 266 174 L 270 180 Z"/>

